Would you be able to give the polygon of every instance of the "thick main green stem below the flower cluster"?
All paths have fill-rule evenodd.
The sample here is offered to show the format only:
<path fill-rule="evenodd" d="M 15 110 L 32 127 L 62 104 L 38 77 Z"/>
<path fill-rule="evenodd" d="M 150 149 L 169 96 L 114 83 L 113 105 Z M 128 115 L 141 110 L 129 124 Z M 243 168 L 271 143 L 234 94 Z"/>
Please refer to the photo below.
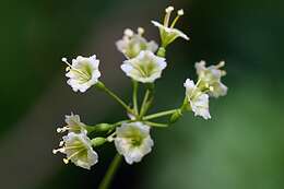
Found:
<path fill-rule="evenodd" d="M 121 161 L 122 161 L 122 156 L 119 154 L 116 154 L 116 156 L 114 157 L 111 164 L 109 165 L 109 167 L 107 169 L 107 173 L 106 173 L 104 179 L 99 184 L 98 189 L 108 189 L 109 188 L 111 180 L 113 180 Z"/>

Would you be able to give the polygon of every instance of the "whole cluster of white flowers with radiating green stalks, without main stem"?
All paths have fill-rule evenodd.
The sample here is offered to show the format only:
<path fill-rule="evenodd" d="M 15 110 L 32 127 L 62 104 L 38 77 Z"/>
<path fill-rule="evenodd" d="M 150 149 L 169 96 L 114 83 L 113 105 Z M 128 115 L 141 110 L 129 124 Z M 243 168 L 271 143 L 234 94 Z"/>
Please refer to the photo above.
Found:
<path fill-rule="evenodd" d="M 67 157 L 63 158 L 66 164 L 72 162 L 76 166 L 90 169 L 98 162 L 95 150 L 105 143 L 114 143 L 117 152 L 128 164 L 137 163 L 152 151 L 154 141 L 150 132 L 154 127 L 167 127 L 187 111 L 192 111 L 204 119 L 211 118 L 209 99 L 227 93 L 227 87 L 221 82 L 222 76 L 226 74 L 224 70 L 221 70 L 225 66 L 224 61 L 210 67 L 206 67 L 205 61 L 197 62 L 198 81 L 193 82 L 190 79 L 185 81 L 185 101 L 181 105 L 171 110 L 147 115 L 154 99 L 154 83 L 167 67 L 167 47 L 178 37 L 189 40 L 186 34 L 176 28 L 176 23 L 184 15 L 184 11 L 177 11 L 177 16 L 170 22 L 173 11 L 173 7 L 165 10 L 163 23 L 152 21 L 159 31 L 159 46 L 154 40 L 144 38 L 142 27 L 139 27 L 137 33 L 130 28 L 125 29 L 122 38 L 116 43 L 117 49 L 126 57 L 120 68 L 133 84 L 131 103 L 122 101 L 99 80 L 99 60 L 95 55 L 79 56 L 72 62 L 62 58 L 68 66 L 67 83 L 74 92 L 84 93 L 90 87 L 96 87 L 119 103 L 125 108 L 127 117 L 115 123 L 90 126 L 82 122 L 79 115 L 66 116 L 66 126 L 58 128 L 57 131 L 67 132 L 67 134 L 59 143 L 59 149 L 54 150 L 55 154 L 57 152 L 66 154 Z M 139 85 L 145 87 L 141 105 L 138 99 Z M 167 122 L 154 121 L 161 117 L 168 118 Z"/>

